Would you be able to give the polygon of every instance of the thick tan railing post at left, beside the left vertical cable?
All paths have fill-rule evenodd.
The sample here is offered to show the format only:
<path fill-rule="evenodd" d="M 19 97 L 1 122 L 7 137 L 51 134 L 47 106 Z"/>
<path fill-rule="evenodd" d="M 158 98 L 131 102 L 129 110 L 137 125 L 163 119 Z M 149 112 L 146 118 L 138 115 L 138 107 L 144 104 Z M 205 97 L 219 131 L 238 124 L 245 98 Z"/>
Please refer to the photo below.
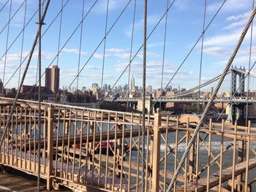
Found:
<path fill-rule="evenodd" d="M 47 189 L 52 190 L 52 179 L 53 174 L 53 108 L 48 107 L 48 134 L 47 134 Z"/>

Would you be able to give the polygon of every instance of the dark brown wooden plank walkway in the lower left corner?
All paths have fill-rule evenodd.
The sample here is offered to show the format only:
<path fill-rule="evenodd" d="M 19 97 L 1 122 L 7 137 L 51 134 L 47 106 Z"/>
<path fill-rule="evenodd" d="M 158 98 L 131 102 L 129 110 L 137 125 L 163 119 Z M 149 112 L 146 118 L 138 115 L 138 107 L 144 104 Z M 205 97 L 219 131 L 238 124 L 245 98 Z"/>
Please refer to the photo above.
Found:
<path fill-rule="evenodd" d="M 28 174 L 22 173 L 23 176 L 19 175 L 19 172 L 4 173 L 0 172 L 0 191 L 37 191 L 37 178 Z M 41 183 L 41 191 L 46 190 L 46 183 Z M 59 191 L 71 191 L 63 188 Z"/>

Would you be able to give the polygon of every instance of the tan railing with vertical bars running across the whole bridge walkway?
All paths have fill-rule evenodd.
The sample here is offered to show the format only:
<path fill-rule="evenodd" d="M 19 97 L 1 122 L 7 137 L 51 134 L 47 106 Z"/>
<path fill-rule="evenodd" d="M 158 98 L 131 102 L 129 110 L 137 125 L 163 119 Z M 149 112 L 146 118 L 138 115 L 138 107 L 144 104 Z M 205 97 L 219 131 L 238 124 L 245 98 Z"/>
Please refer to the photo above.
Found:
<path fill-rule="evenodd" d="M 0 104 L 2 131 L 10 102 Z M 146 167 L 141 167 L 141 115 L 83 107 L 42 105 L 41 177 L 83 191 L 166 191 L 195 122 L 146 117 Z M 0 164 L 37 175 L 37 104 L 20 102 L 1 148 Z M 255 187 L 256 128 L 208 123 L 200 129 L 173 191 L 230 191 Z"/>

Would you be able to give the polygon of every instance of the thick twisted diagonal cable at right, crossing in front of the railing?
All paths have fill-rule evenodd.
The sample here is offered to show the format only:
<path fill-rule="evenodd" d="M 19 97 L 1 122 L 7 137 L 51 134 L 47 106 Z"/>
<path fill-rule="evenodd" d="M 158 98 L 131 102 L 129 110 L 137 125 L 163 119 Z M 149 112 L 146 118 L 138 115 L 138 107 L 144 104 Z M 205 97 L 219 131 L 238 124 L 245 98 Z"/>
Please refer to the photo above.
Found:
<path fill-rule="evenodd" d="M 204 118 L 206 118 L 206 114 L 207 114 L 208 110 L 210 109 L 211 104 L 213 103 L 215 97 L 217 96 L 219 88 L 222 85 L 222 82 L 223 82 L 223 80 L 224 80 L 224 78 L 225 78 L 225 76 L 226 76 L 226 74 L 228 72 L 228 69 L 230 69 L 230 66 L 233 63 L 233 60 L 236 57 L 236 54 L 238 53 L 238 50 L 239 50 L 239 48 L 241 46 L 241 43 L 244 40 L 246 32 L 248 31 L 248 28 L 251 25 L 253 18 L 255 17 L 255 13 L 256 13 L 256 7 L 254 8 L 254 10 L 252 12 L 252 15 L 250 16 L 248 22 L 246 23 L 244 31 L 241 34 L 241 37 L 238 39 L 238 43 L 237 43 L 235 49 L 233 50 L 233 54 L 230 56 L 230 59 L 227 61 L 227 65 L 225 66 L 225 69 L 222 72 L 222 76 L 220 77 L 219 82 L 217 83 L 217 86 L 214 89 L 214 93 L 212 94 L 211 98 L 208 101 L 208 104 L 206 105 L 206 109 L 203 111 L 202 117 L 200 118 L 200 120 L 199 120 L 199 122 L 197 124 L 197 127 L 195 128 L 195 131 L 192 134 L 191 139 L 189 140 L 189 143 L 188 143 L 188 145 L 186 147 L 186 150 L 185 150 L 184 154 L 182 155 L 182 158 L 181 158 L 181 160 L 180 160 L 180 162 L 178 164 L 178 167 L 176 169 L 176 172 L 173 175 L 172 180 L 170 181 L 170 185 L 168 186 L 167 191 L 170 191 L 170 189 L 173 187 L 173 184 L 176 182 L 176 178 L 178 177 L 178 173 L 180 172 L 181 167 L 184 164 L 185 158 L 187 158 L 187 155 L 189 154 L 189 150 L 192 147 L 192 144 L 195 141 L 195 138 L 197 137 L 197 134 L 198 134 L 198 132 L 200 130 L 200 127 L 201 127 L 201 125 L 203 123 L 203 120 L 204 120 Z"/>

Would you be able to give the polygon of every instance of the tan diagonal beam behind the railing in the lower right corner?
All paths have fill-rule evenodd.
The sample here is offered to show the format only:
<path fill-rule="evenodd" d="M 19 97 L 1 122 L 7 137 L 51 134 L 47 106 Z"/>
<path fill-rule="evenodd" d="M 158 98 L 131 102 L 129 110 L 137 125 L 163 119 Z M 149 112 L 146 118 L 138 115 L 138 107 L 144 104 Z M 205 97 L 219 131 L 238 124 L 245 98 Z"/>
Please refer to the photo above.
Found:
<path fill-rule="evenodd" d="M 256 158 L 251 158 L 249 159 L 249 169 L 253 169 L 256 167 Z M 246 161 L 236 164 L 235 166 L 235 176 L 238 174 L 241 174 L 245 172 L 246 169 Z M 222 183 L 232 179 L 232 173 L 233 173 L 233 166 L 229 166 L 226 169 L 223 169 L 222 171 Z M 207 179 L 206 178 L 201 178 L 198 181 L 197 185 L 197 191 L 206 191 L 207 188 Z M 213 188 L 215 186 L 219 185 L 219 172 L 213 173 L 210 176 L 209 180 L 209 188 Z M 196 185 L 195 183 L 187 183 L 187 191 L 195 191 Z M 184 191 L 184 189 L 183 189 Z"/>

